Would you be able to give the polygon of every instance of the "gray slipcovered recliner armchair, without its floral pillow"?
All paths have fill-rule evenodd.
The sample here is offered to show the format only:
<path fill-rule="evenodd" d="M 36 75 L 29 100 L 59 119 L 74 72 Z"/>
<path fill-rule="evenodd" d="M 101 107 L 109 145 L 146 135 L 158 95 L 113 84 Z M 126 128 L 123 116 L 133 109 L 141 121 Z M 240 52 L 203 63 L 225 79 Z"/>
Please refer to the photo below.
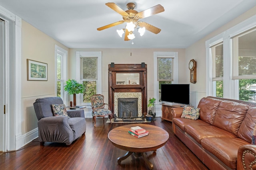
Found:
<path fill-rule="evenodd" d="M 70 145 L 86 131 L 83 109 L 67 110 L 67 116 L 54 116 L 52 104 L 63 104 L 60 97 L 36 99 L 34 109 L 38 119 L 38 139 L 44 142 L 58 142 Z"/>

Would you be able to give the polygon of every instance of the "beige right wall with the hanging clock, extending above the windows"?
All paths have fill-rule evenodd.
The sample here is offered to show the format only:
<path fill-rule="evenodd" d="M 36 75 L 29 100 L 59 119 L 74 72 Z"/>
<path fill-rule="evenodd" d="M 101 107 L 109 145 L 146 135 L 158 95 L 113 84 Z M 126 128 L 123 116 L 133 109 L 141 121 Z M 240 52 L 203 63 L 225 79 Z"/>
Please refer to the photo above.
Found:
<path fill-rule="evenodd" d="M 195 103 L 193 106 L 197 106 L 199 100 L 202 97 L 206 96 L 206 47 L 205 41 L 230 29 L 231 27 L 237 25 L 238 23 L 256 15 L 256 6 L 252 9 L 248 10 L 241 16 L 236 19 L 226 23 L 222 27 L 216 29 L 212 33 L 208 34 L 206 37 L 200 39 L 196 43 L 190 45 L 190 47 L 186 48 L 186 60 L 185 60 L 185 68 L 188 70 L 188 62 L 191 59 L 195 59 L 197 62 L 197 82 L 196 84 L 190 84 L 191 91 L 191 103 Z M 189 72 L 189 71 L 187 71 Z M 189 82 L 189 74 L 186 72 L 186 80 Z"/>

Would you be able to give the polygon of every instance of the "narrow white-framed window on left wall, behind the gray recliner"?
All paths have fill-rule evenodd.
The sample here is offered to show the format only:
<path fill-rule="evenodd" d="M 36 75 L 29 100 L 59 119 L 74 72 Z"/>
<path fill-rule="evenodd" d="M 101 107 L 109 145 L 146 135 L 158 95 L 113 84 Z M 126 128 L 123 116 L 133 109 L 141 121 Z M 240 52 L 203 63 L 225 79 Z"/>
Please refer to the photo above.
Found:
<path fill-rule="evenodd" d="M 66 103 L 66 92 L 64 91 L 64 83 L 67 80 L 67 56 L 68 51 L 55 45 L 55 63 L 56 63 L 56 96 L 62 98 Z"/>

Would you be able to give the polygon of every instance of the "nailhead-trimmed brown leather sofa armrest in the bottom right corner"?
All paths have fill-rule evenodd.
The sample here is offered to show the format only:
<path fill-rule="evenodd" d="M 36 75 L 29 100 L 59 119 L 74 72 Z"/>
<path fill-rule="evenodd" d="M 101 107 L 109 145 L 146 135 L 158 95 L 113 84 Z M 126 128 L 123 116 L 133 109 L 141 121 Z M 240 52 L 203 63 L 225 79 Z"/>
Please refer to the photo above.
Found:
<path fill-rule="evenodd" d="M 256 145 L 243 145 L 238 149 L 237 170 L 256 170 Z"/>

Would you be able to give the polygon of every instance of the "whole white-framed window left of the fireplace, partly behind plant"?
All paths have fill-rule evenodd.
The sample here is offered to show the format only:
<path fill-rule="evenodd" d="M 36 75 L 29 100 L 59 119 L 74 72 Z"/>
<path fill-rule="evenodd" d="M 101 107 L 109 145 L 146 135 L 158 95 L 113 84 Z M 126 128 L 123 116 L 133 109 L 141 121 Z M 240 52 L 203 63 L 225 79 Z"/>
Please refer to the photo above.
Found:
<path fill-rule="evenodd" d="M 101 94 L 101 52 L 77 51 L 77 80 L 84 84 L 78 104 L 90 104 L 90 97 Z"/>

